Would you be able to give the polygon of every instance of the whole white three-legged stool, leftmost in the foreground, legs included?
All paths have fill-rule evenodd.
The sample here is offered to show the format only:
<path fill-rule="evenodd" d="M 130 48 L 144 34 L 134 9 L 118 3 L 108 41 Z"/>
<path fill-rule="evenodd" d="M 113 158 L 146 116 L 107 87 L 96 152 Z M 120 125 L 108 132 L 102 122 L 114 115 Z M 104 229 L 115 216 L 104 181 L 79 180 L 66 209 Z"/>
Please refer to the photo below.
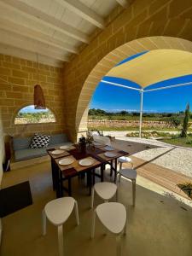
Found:
<path fill-rule="evenodd" d="M 78 203 L 73 197 L 62 197 L 49 201 L 44 207 L 43 215 L 43 235 L 46 235 L 46 218 L 49 222 L 58 227 L 58 242 L 59 242 L 59 255 L 63 256 L 63 230 L 62 224 L 67 221 L 67 218 L 75 209 L 76 222 L 79 225 L 79 211 Z"/>

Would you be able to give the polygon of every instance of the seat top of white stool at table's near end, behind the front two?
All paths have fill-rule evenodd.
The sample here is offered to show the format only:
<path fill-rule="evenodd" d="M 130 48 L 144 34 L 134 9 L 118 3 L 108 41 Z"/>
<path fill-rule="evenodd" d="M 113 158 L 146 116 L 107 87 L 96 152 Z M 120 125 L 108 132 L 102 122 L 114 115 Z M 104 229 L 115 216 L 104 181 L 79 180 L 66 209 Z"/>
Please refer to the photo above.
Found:
<path fill-rule="evenodd" d="M 96 194 L 103 200 L 111 199 L 117 191 L 117 185 L 114 183 L 96 183 L 94 188 L 96 190 Z"/>

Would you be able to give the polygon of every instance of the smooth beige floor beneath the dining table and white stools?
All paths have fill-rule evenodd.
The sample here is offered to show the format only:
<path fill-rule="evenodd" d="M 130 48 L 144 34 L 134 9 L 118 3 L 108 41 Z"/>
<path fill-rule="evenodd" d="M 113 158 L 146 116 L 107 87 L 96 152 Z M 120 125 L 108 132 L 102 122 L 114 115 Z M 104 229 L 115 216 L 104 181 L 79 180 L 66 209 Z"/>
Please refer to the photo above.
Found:
<path fill-rule="evenodd" d="M 106 180 L 110 177 L 106 173 Z M 41 212 L 46 202 L 55 198 L 51 187 L 49 163 L 5 173 L 3 187 L 29 180 L 33 205 L 3 218 L 2 256 L 58 255 L 57 233 L 48 224 L 41 235 Z M 158 186 L 137 178 L 137 203 L 131 206 L 131 183 L 121 180 L 119 202 L 127 208 L 127 235 L 122 236 L 122 256 L 191 256 L 192 209 L 174 198 L 160 195 Z M 149 189 L 150 188 L 150 189 Z M 160 189 L 159 189 L 160 190 Z M 90 239 L 92 211 L 84 180 L 73 180 L 73 197 L 79 203 L 80 225 L 72 215 L 64 224 L 64 255 L 114 256 L 115 239 L 104 236 L 96 221 L 96 237 Z M 96 197 L 96 204 L 102 202 Z M 117 216 L 118 218 L 118 216 Z"/>

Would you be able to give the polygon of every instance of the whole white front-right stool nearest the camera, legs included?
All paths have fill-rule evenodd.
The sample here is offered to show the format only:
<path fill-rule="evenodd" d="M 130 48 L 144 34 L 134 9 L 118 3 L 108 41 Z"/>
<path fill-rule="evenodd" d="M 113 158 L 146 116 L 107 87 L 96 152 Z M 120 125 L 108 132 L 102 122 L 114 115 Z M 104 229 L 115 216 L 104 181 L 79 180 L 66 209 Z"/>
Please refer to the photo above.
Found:
<path fill-rule="evenodd" d="M 118 202 L 107 202 L 96 207 L 93 213 L 91 238 L 95 235 L 96 216 L 103 226 L 116 236 L 117 256 L 120 256 L 120 236 L 126 233 L 126 210 L 125 206 Z"/>

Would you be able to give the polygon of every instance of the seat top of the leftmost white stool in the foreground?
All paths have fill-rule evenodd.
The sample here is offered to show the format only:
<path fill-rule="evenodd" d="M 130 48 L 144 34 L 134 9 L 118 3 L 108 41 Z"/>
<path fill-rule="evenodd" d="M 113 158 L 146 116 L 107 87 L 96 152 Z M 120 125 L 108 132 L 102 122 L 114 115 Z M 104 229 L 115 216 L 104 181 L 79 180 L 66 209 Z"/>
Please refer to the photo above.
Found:
<path fill-rule="evenodd" d="M 73 197 L 58 198 L 49 201 L 44 207 L 44 211 L 52 224 L 61 225 L 66 222 L 67 218 L 73 212 L 74 203 Z"/>

